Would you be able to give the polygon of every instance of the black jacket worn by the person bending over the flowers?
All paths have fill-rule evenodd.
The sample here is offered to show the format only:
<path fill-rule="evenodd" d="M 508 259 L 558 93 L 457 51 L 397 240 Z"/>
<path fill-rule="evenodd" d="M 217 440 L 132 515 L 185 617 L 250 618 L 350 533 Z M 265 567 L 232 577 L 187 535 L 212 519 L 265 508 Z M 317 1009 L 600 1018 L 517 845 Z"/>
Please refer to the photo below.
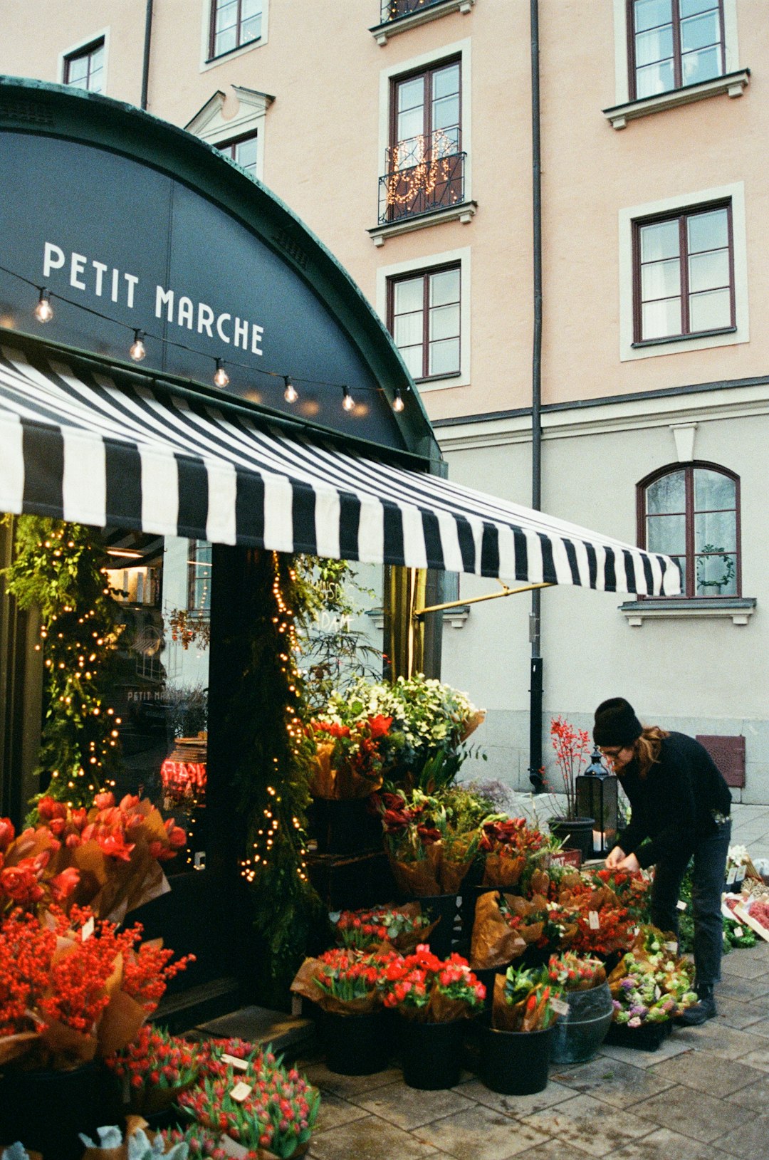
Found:
<path fill-rule="evenodd" d="M 716 833 L 714 813 L 728 814 L 732 795 L 708 751 L 684 733 L 662 739 L 659 762 L 646 777 L 631 761 L 618 774 L 631 805 L 630 825 L 617 844 L 643 868 L 688 862 L 695 847 Z M 651 842 L 639 853 L 644 839 Z"/>

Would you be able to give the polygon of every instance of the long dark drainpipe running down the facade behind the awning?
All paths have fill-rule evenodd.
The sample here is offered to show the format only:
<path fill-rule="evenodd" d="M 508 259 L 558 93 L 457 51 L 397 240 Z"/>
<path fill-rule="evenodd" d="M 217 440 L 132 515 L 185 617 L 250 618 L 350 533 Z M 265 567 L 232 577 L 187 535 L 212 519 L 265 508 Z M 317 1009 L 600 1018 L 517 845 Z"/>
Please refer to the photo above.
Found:
<path fill-rule="evenodd" d="M 530 0 L 531 22 L 531 224 L 534 242 L 534 349 L 531 357 L 531 507 L 542 507 L 542 153 L 539 145 L 539 2 Z M 542 653 L 541 590 L 531 593 L 529 640 L 529 781 L 542 792 Z"/>

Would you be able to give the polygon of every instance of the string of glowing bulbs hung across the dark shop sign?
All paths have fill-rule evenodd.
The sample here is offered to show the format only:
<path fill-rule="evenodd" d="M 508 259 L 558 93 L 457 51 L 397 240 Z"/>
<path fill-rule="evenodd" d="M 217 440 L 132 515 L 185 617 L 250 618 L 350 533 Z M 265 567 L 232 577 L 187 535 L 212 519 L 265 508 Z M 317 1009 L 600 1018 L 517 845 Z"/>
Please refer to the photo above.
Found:
<path fill-rule="evenodd" d="M 213 382 L 217 386 L 224 387 L 230 383 L 230 376 L 225 370 L 225 360 L 217 357 L 216 355 L 206 354 L 203 350 L 198 350 L 196 347 L 189 347 L 184 342 L 176 342 L 173 339 L 166 339 L 160 334 L 151 334 L 148 331 L 138 329 L 131 326 L 130 322 L 123 322 L 119 319 L 110 318 L 109 314 L 104 314 L 99 310 L 94 310 L 93 306 L 86 306 L 81 302 L 75 302 L 73 298 L 67 298 L 60 293 L 53 293 L 48 287 L 42 287 L 37 282 L 32 282 L 31 278 L 24 277 L 23 274 L 17 274 L 15 270 L 8 269 L 8 267 L 0 264 L 0 270 L 3 274 L 9 274 L 10 277 L 19 278 L 20 282 L 24 282 L 28 287 L 32 287 L 37 290 L 39 298 L 37 305 L 34 309 L 34 314 L 41 322 L 48 322 L 53 318 L 53 307 L 51 305 L 51 298 L 58 302 L 64 302 L 68 306 L 75 306 L 78 310 L 85 311 L 87 314 L 92 314 L 94 318 L 100 318 L 104 322 L 109 322 L 111 326 L 122 326 L 126 331 L 133 332 L 133 342 L 129 349 L 129 355 L 133 362 L 140 362 L 146 356 L 146 345 L 145 340 L 148 339 L 152 342 L 162 342 L 165 346 L 175 347 L 177 350 L 186 350 L 188 354 L 197 355 L 199 358 L 211 358 L 215 363 Z M 296 384 L 300 386 L 328 386 L 332 390 L 342 392 L 342 407 L 344 411 L 355 409 L 355 400 L 353 399 L 349 386 L 343 383 L 328 383 L 320 378 L 298 378 L 296 375 L 283 375 L 275 370 L 264 370 L 262 367 L 254 367 L 252 363 L 238 362 L 237 360 L 227 358 L 226 367 L 233 368 L 239 367 L 242 370 L 247 370 L 249 374 L 256 372 L 257 375 L 266 375 L 268 378 L 280 378 L 283 379 L 284 391 L 283 397 L 286 403 L 296 403 L 299 398 L 299 392 Z M 382 392 L 384 390 L 380 386 L 365 386 L 358 385 L 355 387 L 356 392 Z M 411 392 L 411 385 L 406 384 L 406 393 Z M 349 400 L 349 401 L 348 401 Z M 393 399 L 391 401 L 393 411 L 401 412 L 404 409 L 404 398 L 400 387 L 396 387 L 393 393 Z"/>

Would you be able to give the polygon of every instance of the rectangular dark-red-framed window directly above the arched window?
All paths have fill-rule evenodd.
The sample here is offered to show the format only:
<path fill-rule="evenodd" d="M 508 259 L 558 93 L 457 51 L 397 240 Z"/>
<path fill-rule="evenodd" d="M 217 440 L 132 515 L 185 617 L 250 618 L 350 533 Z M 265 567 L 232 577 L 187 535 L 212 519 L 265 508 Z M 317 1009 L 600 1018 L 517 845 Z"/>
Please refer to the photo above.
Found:
<path fill-rule="evenodd" d="M 734 329 L 731 202 L 633 223 L 634 341 Z"/>

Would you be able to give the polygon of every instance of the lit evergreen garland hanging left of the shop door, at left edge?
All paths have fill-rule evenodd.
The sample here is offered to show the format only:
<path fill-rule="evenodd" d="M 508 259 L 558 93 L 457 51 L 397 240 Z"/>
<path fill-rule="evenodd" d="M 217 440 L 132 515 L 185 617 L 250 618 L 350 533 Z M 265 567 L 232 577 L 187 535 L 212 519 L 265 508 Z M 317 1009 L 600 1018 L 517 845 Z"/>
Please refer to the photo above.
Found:
<path fill-rule="evenodd" d="M 22 515 L 7 590 L 19 607 L 39 608 L 44 654 L 43 733 L 36 774 L 48 793 L 74 806 L 94 795 L 118 766 L 118 717 L 108 704 L 117 651 L 119 604 L 104 579 L 100 532 L 78 523 Z"/>

